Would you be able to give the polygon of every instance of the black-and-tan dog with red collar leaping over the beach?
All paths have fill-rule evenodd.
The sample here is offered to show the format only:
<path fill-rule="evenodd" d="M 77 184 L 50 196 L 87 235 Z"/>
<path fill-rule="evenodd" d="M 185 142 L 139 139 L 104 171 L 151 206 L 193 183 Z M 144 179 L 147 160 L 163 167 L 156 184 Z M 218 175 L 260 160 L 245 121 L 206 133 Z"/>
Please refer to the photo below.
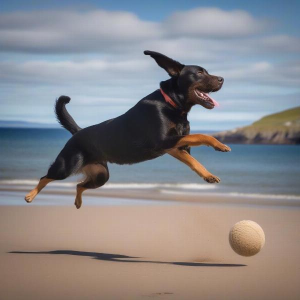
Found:
<path fill-rule="evenodd" d="M 58 122 L 72 133 L 47 174 L 26 196 L 31 202 L 49 182 L 81 172 L 85 179 L 76 185 L 75 206 L 80 208 L 82 192 L 105 184 L 109 178 L 107 162 L 132 164 L 165 153 L 188 165 L 205 181 L 220 179 L 190 155 L 190 147 L 207 145 L 217 151 L 230 148 L 212 136 L 189 134 L 187 113 L 195 104 L 212 109 L 216 105 L 208 93 L 222 87 L 224 79 L 208 74 L 201 66 L 184 65 L 161 53 L 144 51 L 170 76 L 160 88 L 139 100 L 124 114 L 96 125 L 80 128 L 65 108 L 68 96 L 55 102 Z"/>

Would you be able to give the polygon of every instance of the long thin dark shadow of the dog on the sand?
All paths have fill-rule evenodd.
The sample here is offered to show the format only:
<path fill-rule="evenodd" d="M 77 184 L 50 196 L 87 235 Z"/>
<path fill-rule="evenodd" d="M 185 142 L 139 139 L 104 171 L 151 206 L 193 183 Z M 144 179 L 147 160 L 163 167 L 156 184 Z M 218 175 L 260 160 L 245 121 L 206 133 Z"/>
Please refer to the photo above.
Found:
<path fill-rule="evenodd" d="M 118 261 L 118 262 L 146 262 L 146 263 L 163 263 L 163 264 L 176 264 L 185 266 L 245 266 L 246 264 L 233 264 L 233 263 L 208 263 L 208 262 L 181 262 L 181 261 L 154 261 L 154 260 L 140 260 L 134 256 L 127 256 L 121 254 L 74 251 L 74 250 L 53 250 L 53 251 L 10 251 L 8 253 L 21 253 L 21 254 L 67 254 L 77 256 L 89 256 L 93 259 Z"/>

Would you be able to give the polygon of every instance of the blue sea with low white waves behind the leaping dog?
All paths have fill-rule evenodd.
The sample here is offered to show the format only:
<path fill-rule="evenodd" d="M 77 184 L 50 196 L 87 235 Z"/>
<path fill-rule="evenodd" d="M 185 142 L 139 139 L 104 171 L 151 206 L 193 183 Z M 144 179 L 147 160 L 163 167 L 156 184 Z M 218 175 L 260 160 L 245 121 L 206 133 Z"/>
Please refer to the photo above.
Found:
<path fill-rule="evenodd" d="M 0 188 L 34 186 L 46 174 L 70 133 L 62 128 L 0 128 Z M 207 146 L 191 154 L 220 183 L 207 183 L 168 154 L 132 165 L 108 164 L 109 181 L 100 188 L 173 193 L 255 196 L 300 201 L 300 146 L 229 144 L 231 152 Z M 73 186 L 80 177 L 49 185 Z M 1 193 L 1 191 L 0 191 Z"/>

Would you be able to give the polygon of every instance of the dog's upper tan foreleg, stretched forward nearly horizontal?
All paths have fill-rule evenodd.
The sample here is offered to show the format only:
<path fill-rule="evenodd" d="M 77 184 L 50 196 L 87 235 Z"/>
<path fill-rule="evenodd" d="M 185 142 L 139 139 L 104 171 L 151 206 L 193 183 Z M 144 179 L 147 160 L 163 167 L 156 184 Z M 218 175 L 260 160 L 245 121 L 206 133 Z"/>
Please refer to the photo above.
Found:
<path fill-rule="evenodd" d="M 219 142 L 216 138 L 206 134 L 188 134 L 183 136 L 175 145 L 176 148 L 182 146 L 199 146 L 206 145 L 211 146 L 217 151 L 229 152 L 231 149 Z"/>

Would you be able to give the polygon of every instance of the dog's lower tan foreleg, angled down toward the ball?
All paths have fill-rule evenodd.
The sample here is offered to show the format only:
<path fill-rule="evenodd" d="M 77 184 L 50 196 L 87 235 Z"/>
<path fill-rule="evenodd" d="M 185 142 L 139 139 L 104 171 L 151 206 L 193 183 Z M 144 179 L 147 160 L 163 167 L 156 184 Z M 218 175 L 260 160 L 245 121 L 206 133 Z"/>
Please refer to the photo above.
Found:
<path fill-rule="evenodd" d="M 179 159 L 186 165 L 188 165 L 193 171 L 195 171 L 199 176 L 201 176 L 205 181 L 209 183 L 220 182 L 220 178 L 214 176 L 209 171 L 205 169 L 205 167 L 193 158 L 190 154 L 188 154 L 185 150 L 180 150 L 178 148 L 169 149 L 166 151 L 168 154 L 173 157 Z"/>

